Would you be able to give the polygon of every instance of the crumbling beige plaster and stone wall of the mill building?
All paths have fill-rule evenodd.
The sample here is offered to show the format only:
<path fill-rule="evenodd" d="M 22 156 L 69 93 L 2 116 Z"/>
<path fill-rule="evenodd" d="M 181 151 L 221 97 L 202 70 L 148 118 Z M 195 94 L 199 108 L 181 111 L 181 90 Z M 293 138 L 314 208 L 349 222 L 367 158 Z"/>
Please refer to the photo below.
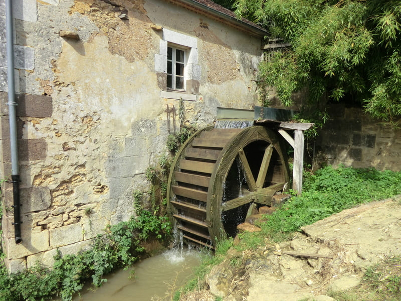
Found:
<path fill-rule="evenodd" d="M 19 148 L 25 150 L 23 243 L 14 242 L 12 190 L 5 183 L 2 227 L 11 271 L 37 260 L 51 266 L 56 248 L 63 254 L 86 248 L 108 224 L 134 214 L 134 190 L 148 190 L 146 168 L 166 152 L 164 110 L 179 103 L 160 97 L 154 55 L 162 33 L 150 25 L 197 39 L 199 92 L 184 106 L 186 122 L 198 127 L 214 121 L 218 106 L 256 104 L 253 80 L 261 55 L 260 39 L 160 0 L 18 2 L 30 8 L 30 18 L 16 20 L 16 44 L 34 60 L 16 66 Z M 127 19 L 120 19 L 124 14 Z M 79 40 L 60 37 L 62 30 Z M 11 174 L 5 92 L 2 178 Z"/>

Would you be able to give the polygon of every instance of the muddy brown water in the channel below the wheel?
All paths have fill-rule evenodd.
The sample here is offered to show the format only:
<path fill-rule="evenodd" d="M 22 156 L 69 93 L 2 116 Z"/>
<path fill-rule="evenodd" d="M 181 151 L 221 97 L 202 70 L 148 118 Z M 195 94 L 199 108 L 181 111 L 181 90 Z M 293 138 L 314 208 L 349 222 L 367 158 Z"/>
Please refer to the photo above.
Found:
<path fill-rule="evenodd" d="M 168 250 L 138 262 L 128 270 L 109 274 L 106 283 L 98 288 L 85 287 L 81 296 L 76 296 L 73 301 L 159 300 L 184 285 L 200 259 L 196 250 Z"/>

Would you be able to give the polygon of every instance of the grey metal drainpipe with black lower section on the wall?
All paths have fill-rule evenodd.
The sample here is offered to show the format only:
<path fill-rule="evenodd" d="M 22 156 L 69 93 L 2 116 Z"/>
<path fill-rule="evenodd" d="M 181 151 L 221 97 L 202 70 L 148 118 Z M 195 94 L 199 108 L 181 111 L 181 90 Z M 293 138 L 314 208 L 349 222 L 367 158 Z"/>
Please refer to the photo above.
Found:
<path fill-rule="evenodd" d="M 13 1 L 6 0 L 6 32 L 7 32 L 7 80 L 9 87 L 9 116 L 10 116 L 10 143 L 11 143 L 11 180 L 13 183 L 13 208 L 14 208 L 14 234 L 17 244 L 22 243 L 21 238 L 21 213 L 20 213 L 20 172 L 18 166 L 17 144 L 17 114 L 14 83 L 14 26 L 13 26 Z"/>

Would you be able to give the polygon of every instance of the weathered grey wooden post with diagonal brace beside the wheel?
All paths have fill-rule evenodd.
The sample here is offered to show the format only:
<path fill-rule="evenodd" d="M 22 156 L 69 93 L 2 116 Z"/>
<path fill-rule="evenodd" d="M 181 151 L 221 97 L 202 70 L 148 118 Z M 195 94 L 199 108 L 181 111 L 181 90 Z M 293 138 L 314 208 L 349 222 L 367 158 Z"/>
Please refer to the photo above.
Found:
<path fill-rule="evenodd" d="M 304 164 L 304 130 L 313 126 L 313 123 L 281 122 L 279 133 L 294 147 L 294 162 L 292 169 L 292 189 L 298 195 L 302 193 L 302 168 Z M 294 130 L 294 139 L 284 130 Z"/>

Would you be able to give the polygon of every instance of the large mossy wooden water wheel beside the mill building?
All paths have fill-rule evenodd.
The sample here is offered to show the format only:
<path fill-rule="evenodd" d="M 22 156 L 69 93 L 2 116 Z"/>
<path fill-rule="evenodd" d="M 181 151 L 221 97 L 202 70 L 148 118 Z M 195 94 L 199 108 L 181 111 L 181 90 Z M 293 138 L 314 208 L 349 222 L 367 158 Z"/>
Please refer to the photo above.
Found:
<path fill-rule="evenodd" d="M 213 248 L 223 236 L 236 234 L 251 205 L 269 206 L 286 183 L 288 160 L 274 131 L 207 127 L 195 132 L 175 157 L 168 213 L 184 238 Z"/>

